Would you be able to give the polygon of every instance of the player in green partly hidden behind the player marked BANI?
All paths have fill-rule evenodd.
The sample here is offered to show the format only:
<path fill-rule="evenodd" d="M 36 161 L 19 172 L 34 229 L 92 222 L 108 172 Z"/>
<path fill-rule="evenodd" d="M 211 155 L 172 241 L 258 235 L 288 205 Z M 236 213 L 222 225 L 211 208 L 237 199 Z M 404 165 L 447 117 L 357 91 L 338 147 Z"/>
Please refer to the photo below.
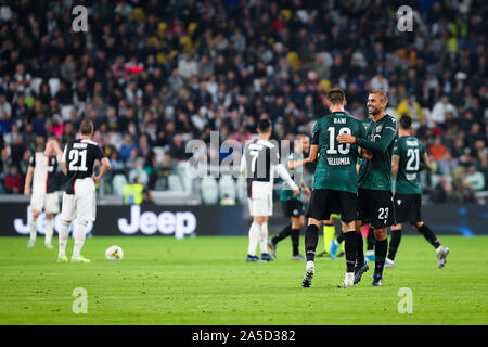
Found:
<path fill-rule="evenodd" d="M 304 153 L 308 153 L 309 147 L 310 139 L 308 136 L 305 133 L 297 134 L 293 143 L 293 153 L 288 155 L 284 164 L 290 176 L 293 176 L 296 182 L 301 181 L 301 189 L 306 198 L 310 198 L 310 190 L 303 180 L 303 169 L 299 169 L 308 163 L 308 158 L 304 158 Z M 277 244 L 287 236 L 291 236 L 293 248 L 292 259 L 305 260 L 305 257 L 300 255 L 298 250 L 300 230 L 305 226 L 305 211 L 304 204 L 301 203 L 301 196 L 294 195 L 292 188 L 286 182 L 283 182 L 283 187 L 280 191 L 280 201 L 283 205 L 283 214 L 286 218 L 290 218 L 291 223 L 269 241 L 268 247 L 272 256 L 275 258 Z"/>

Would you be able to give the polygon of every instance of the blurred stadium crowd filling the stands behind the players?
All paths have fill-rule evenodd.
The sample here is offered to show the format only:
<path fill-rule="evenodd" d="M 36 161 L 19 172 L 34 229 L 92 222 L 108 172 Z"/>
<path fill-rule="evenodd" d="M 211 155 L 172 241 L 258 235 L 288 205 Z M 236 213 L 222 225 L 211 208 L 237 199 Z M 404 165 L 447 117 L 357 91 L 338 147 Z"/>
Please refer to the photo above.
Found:
<path fill-rule="evenodd" d="M 0 1 L 0 192 L 22 193 L 36 146 L 75 139 L 84 117 L 112 172 L 164 190 L 189 140 L 244 143 L 262 117 L 273 139 L 310 133 L 338 86 L 361 119 L 385 90 L 433 159 L 432 201 L 474 203 L 488 190 L 487 17 L 485 0 Z"/>

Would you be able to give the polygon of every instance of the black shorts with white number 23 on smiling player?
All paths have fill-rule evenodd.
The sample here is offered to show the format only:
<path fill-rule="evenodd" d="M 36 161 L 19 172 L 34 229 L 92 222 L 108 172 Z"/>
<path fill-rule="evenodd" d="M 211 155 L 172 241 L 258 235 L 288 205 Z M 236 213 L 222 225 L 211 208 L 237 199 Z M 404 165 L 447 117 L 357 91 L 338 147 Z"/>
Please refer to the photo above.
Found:
<path fill-rule="evenodd" d="M 395 224 L 395 206 L 390 191 L 358 189 L 358 220 L 375 229 Z"/>

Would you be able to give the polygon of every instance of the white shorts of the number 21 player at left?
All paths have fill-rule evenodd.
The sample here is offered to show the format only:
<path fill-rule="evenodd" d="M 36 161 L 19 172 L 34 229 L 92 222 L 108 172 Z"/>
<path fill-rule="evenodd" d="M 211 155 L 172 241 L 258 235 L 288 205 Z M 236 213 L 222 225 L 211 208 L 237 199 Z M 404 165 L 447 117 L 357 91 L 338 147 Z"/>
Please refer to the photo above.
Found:
<path fill-rule="evenodd" d="M 90 222 L 97 216 L 97 196 L 93 179 L 87 177 L 76 180 L 75 194 L 63 193 L 63 207 L 61 216 L 63 220 L 72 221 L 76 218 Z"/>

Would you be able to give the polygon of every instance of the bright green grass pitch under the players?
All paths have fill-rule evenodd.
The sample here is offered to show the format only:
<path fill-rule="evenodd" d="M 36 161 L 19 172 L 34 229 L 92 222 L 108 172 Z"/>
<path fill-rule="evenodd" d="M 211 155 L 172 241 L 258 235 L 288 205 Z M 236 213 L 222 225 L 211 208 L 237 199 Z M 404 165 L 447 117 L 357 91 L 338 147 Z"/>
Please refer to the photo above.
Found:
<path fill-rule="evenodd" d="M 0 237 L 0 324 L 488 324 L 488 237 L 439 240 L 451 249 L 444 269 L 423 237 L 406 236 L 383 287 L 371 286 L 371 267 L 339 288 L 344 258 L 318 258 L 301 288 L 305 261 L 290 259 L 290 240 L 275 261 L 247 264 L 244 236 L 93 237 L 85 265 L 55 262 L 42 237 L 34 249 L 27 237 Z M 113 244 L 123 261 L 105 260 Z M 86 314 L 73 312 L 76 287 L 87 291 Z M 398 311 L 402 287 L 413 313 Z"/>

